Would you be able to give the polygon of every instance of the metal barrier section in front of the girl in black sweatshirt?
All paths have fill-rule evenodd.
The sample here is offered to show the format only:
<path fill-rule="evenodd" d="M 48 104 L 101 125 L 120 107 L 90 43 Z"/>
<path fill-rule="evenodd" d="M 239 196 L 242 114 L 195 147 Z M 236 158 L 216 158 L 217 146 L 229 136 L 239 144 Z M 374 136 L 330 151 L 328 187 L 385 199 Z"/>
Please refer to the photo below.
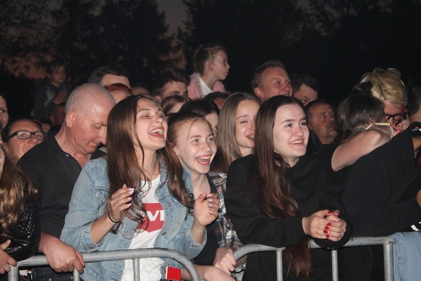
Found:
<path fill-rule="evenodd" d="M 312 239 L 310 241 L 310 248 L 316 249 L 320 248 Z M 352 246 L 368 246 L 368 245 L 383 245 L 383 255 L 384 255 L 384 280 L 393 281 L 393 249 L 392 246 L 395 243 L 390 236 L 384 237 L 352 237 L 343 247 L 352 247 Z M 277 281 L 283 280 L 282 273 L 282 251 L 285 250 L 285 247 L 275 248 L 259 244 L 248 244 L 243 247 L 238 248 L 234 251 L 234 257 L 236 260 L 239 260 L 241 257 L 253 253 L 253 252 L 266 252 L 266 251 L 276 251 L 276 277 Z M 338 281 L 337 274 L 337 251 L 332 251 L 332 279 L 333 281 Z"/>

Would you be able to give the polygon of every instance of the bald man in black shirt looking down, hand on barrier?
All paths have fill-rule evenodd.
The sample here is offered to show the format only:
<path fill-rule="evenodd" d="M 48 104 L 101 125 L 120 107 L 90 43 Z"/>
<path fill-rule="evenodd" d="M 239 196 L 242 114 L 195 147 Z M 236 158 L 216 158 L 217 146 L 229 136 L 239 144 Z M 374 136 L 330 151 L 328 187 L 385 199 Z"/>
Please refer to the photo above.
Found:
<path fill-rule="evenodd" d="M 105 155 L 96 148 L 106 141 L 108 114 L 115 104 L 113 96 L 99 85 L 87 83 L 77 87 L 67 100 L 60 131 L 19 161 L 39 190 L 42 228 L 39 251 L 54 270 L 35 269 L 33 280 L 64 277 L 61 272 L 72 272 L 74 268 L 83 272 L 82 255 L 59 237 L 82 167 Z"/>

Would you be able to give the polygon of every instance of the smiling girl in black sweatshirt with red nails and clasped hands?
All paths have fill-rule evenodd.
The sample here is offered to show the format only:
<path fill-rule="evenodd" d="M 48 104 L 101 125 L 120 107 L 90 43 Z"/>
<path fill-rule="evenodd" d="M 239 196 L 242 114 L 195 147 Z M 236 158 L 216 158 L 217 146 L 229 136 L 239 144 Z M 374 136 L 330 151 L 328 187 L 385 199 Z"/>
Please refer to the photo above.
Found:
<path fill-rule="evenodd" d="M 330 252 L 309 250 L 312 237 L 337 249 L 350 237 L 349 224 L 329 163 L 306 156 L 309 129 L 300 101 L 275 96 L 259 108 L 254 154 L 228 171 L 225 204 L 238 237 L 284 247 L 284 280 L 330 280 Z M 243 280 L 276 280 L 274 252 L 248 255 Z"/>

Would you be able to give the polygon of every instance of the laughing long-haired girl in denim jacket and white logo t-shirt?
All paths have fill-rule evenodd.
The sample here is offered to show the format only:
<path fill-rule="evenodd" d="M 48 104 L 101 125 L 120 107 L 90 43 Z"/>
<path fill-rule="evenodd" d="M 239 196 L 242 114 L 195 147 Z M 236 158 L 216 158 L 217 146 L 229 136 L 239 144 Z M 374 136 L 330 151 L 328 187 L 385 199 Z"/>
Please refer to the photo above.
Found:
<path fill-rule="evenodd" d="M 60 238 L 80 252 L 159 247 L 198 255 L 218 200 L 206 192 L 194 199 L 188 172 L 170 162 L 159 103 L 129 96 L 111 110 L 107 125 L 108 156 L 84 166 Z M 167 266 L 181 268 L 166 258 L 141 259 L 140 278 L 165 278 Z M 85 281 L 133 276 L 131 260 L 86 263 L 81 275 Z"/>

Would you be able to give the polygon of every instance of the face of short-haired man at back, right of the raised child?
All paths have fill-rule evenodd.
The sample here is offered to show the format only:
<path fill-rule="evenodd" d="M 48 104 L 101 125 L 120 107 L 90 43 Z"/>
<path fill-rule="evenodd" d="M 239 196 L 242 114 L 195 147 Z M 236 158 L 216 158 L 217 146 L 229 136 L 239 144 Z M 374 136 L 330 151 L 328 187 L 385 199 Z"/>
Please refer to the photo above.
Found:
<path fill-rule="evenodd" d="M 261 75 L 261 87 L 254 89 L 254 93 L 262 101 L 275 95 L 291 96 L 293 89 L 288 73 L 280 67 L 266 69 Z"/>

